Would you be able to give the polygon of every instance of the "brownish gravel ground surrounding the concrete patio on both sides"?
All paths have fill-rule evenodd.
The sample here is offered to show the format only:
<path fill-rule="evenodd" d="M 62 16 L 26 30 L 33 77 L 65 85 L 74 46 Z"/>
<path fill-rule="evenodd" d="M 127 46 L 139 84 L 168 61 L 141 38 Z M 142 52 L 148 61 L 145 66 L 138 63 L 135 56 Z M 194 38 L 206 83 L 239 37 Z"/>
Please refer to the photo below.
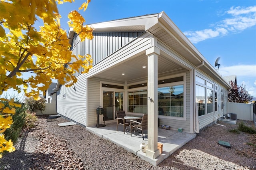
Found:
<path fill-rule="evenodd" d="M 256 169 L 256 135 L 234 134 L 228 130 L 238 127 L 212 125 L 185 146 L 174 152 L 158 166 L 152 166 L 138 156 L 108 140 L 88 132 L 80 125 L 59 127 L 67 120 L 38 117 L 37 128 L 24 132 L 15 144 L 16 151 L 0 159 L 4 170 L 237 170 Z M 247 126 L 254 127 L 250 121 Z M 230 142 L 231 149 L 217 144 Z"/>

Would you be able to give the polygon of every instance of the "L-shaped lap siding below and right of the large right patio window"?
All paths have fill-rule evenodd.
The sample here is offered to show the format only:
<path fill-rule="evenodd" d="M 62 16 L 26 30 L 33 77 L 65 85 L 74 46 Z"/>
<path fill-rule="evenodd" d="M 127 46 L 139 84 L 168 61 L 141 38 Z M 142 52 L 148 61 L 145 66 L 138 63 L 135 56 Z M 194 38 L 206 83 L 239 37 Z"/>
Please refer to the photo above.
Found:
<path fill-rule="evenodd" d="M 184 132 L 190 132 L 190 72 L 186 72 L 186 121 L 183 120 L 174 120 L 174 119 L 162 119 L 160 120 L 160 125 L 168 125 L 173 130 L 182 128 Z"/>

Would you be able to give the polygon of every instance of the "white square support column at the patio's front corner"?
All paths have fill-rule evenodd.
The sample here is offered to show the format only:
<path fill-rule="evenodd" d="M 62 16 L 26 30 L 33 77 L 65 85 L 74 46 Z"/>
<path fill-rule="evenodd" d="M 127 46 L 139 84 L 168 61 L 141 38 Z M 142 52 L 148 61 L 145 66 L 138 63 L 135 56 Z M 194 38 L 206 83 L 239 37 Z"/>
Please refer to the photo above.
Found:
<path fill-rule="evenodd" d="M 158 142 L 158 55 L 160 49 L 152 46 L 146 50 L 148 55 L 148 149 L 146 156 L 156 158 L 160 155 Z"/>

